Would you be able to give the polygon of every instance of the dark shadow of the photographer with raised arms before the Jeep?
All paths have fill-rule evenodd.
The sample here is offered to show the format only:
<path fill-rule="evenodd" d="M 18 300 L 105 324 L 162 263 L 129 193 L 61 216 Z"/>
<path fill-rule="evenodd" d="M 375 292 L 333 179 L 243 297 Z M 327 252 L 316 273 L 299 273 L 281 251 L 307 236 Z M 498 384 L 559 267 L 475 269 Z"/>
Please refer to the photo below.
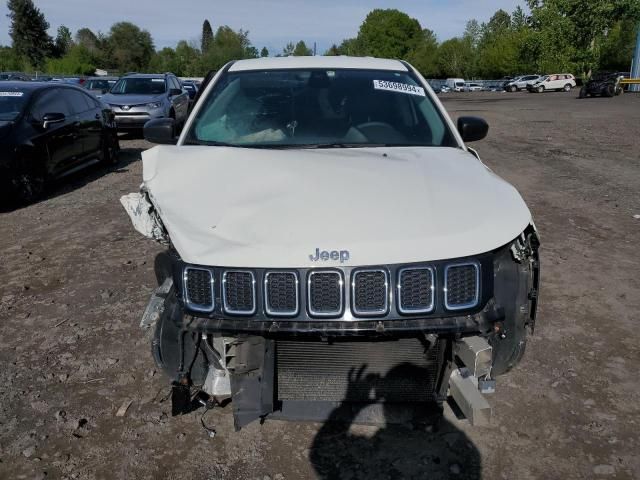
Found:
<path fill-rule="evenodd" d="M 346 401 L 331 412 L 314 438 L 310 459 L 319 478 L 481 478 L 480 453 L 461 430 L 443 418 L 439 408 L 385 402 L 407 378 L 425 378 L 424 368 L 403 363 L 384 377 L 365 370 L 366 365 L 357 372 L 351 369 Z M 363 398 L 363 393 L 372 394 L 364 398 L 382 404 L 384 425 L 377 430 L 357 426 L 366 421 L 366 411 L 374 406 L 353 402 Z M 408 418 L 412 410 L 414 415 Z"/>

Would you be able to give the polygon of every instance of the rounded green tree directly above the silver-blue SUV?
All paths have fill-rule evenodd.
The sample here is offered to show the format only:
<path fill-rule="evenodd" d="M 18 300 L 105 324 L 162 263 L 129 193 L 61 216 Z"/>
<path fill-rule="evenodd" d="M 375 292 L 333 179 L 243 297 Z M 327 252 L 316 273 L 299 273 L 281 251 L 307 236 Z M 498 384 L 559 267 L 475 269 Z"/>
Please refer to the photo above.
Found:
<path fill-rule="evenodd" d="M 106 66 L 121 72 L 146 70 L 155 52 L 151 34 L 130 22 L 113 24 L 105 43 Z"/>

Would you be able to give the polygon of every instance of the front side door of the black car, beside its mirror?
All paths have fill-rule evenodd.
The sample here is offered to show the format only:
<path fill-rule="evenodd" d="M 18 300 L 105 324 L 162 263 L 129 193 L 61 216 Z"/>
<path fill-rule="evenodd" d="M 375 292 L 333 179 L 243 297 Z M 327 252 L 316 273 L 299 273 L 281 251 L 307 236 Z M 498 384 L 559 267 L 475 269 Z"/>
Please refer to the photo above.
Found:
<path fill-rule="evenodd" d="M 62 173 L 82 154 L 76 118 L 62 90 L 64 89 L 45 90 L 34 99 L 29 112 L 29 117 L 38 132 L 32 142 L 43 152 L 46 171 L 51 176 Z M 64 118 L 45 127 L 45 115 L 52 113 L 63 114 Z"/>

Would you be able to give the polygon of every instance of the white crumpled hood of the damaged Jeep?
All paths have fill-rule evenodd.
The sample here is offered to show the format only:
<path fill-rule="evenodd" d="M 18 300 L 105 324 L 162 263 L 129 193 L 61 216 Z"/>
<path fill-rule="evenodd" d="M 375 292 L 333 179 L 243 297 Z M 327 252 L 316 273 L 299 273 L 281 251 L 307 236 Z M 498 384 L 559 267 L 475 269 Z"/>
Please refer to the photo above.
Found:
<path fill-rule="evenodd" d="M 518 236 L 531 214 L 471 153 L 403 147 L 264 150 L 158 146 L 144 186 L 189 263 L 307 267 L 463 257 Z"/>

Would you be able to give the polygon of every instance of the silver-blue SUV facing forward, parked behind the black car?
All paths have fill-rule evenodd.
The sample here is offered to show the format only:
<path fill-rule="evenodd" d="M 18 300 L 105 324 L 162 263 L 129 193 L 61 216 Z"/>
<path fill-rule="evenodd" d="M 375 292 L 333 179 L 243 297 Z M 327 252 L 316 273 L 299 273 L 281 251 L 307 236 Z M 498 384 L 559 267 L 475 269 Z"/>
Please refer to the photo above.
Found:
<path fill-rule="evenodd" d="M 154 118 L 172 118 L 181 128 L 189 114 L 189 94 L 172 73 L 126 75 L 102 101 L 113 109 L 120 130 L 141 130 Z"/>

